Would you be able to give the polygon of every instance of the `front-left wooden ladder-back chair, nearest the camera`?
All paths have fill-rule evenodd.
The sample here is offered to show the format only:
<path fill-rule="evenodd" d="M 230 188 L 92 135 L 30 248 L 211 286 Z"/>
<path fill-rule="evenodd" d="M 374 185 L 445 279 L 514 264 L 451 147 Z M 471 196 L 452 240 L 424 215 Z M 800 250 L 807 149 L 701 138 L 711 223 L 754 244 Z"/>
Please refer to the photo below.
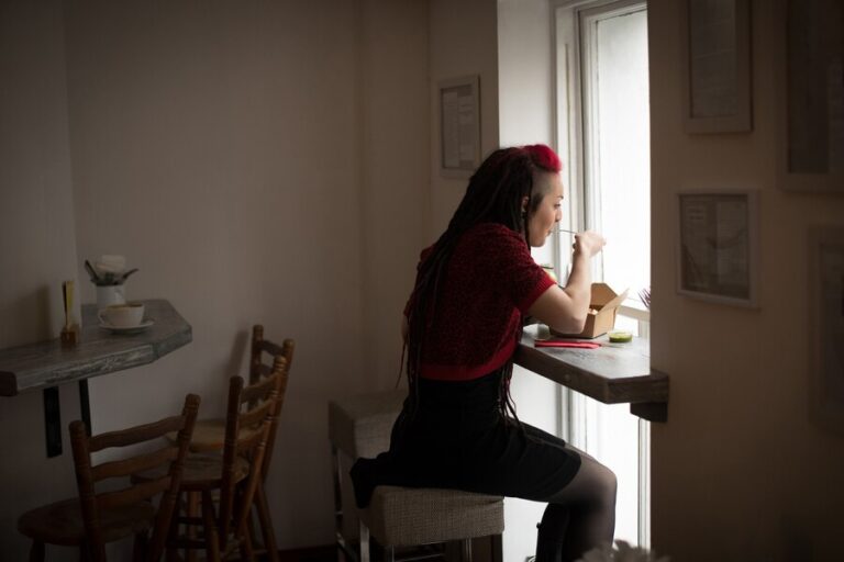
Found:
<path fill-rule="evenodd" d="M 89 437 L 85 424 L 70 424 L 79 497 L 56 502 L 23 514 L 18 530 L 33 541 L 31 561 L 44 561 L 44 544 L 80 549 L 82 560 L 106 560 L 106 543 L 135 537 L 133 560 L 160 559 L 180 485 L 182 464 L 199 409 L 199 396 L 185 398 L 181 415 Z M 178 431 L 175 443 L 122 460 L 93 464 L 91 453 L 115 447 L 136 446 Z M 165 441 L 166 442 L 166 441 Z M 129 476 L 138 470 L 159 468 L 159 476 L 116 491 L 97 492 L 98 482 Z M 152 498 L 160 495 L 157 508 Z M 152 539 L 148 531 L 152 529 Z"/>

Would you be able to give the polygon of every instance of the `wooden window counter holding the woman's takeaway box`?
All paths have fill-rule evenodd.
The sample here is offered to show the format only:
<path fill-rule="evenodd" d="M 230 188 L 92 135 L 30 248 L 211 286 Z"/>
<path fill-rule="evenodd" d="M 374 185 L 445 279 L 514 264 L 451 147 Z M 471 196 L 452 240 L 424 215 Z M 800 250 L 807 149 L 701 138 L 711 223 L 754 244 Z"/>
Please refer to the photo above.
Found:
<path fill-rule="evenodd" d="M 604 404 L 630 404 L 630 412 L 651 422 L 668 417 L 668 375 L 651 369 L 647 341 L 590 341 L 597 349 L 534 347 L 538 326 L 525 326 L 514 362 L 529 371 Z"/>

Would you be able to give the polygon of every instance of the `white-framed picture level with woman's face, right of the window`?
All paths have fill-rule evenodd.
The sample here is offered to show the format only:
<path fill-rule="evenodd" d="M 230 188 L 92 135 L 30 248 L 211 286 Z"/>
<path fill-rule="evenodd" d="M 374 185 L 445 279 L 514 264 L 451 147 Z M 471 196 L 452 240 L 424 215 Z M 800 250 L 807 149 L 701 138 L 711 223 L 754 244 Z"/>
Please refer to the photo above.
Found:
<path fill-rule="evenodd" d="M 681 192 L 677 203 L 677 292 L 714 303 L 758 306 L 758 193 Z"/>

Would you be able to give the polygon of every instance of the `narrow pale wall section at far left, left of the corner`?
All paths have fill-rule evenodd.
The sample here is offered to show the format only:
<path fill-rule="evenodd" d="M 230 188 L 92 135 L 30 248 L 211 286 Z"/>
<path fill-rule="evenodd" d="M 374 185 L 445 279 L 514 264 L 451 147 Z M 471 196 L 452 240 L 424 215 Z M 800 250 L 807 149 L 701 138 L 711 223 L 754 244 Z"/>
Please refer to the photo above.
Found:
<path fill-rule="evenodd" d="M 57 337 L 76 276 L 62 18 L 57 2 L 0 2 L 0 348 Z M 76 387 L 59 395 L 78 417 Z M 46 459 L 42 412 L 41 393 L 0 397 L 2 560 L 26 559 L 18 515 L 76 486 L 69 454 Z"/>

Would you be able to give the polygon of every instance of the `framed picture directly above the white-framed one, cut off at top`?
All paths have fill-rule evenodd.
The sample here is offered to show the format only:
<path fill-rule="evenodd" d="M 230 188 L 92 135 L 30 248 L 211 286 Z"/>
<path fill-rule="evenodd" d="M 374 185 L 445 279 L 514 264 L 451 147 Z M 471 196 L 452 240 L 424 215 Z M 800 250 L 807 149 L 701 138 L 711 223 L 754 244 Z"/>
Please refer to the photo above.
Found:
<path fill-rule="evenodd" d="M 752 131 L 751 1 L 681 3 L 686 132 Z"/>

